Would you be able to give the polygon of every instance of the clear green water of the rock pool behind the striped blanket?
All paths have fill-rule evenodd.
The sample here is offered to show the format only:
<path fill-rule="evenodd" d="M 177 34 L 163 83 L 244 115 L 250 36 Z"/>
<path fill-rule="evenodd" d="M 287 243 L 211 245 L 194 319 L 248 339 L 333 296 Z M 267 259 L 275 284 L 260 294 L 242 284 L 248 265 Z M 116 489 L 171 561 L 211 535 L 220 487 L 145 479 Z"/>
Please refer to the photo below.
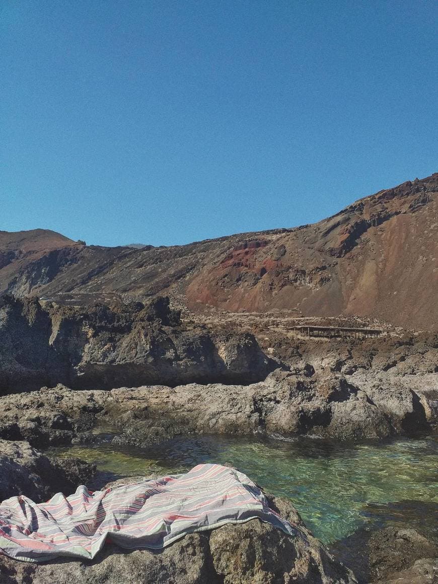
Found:
<path fill-rule="evenodd" d="M 408 522 L 432 536 L 438 526 L 436 437 L 345 445 L 214 436 L 176 439 L 150 450 L 107 442 L 50 453 L 95 462 L 100 484 L 115 477 L 184 472 L 204 462 L 230 463 L 266 491 L 290 498 L 325 543 L 373 521 Z"/>

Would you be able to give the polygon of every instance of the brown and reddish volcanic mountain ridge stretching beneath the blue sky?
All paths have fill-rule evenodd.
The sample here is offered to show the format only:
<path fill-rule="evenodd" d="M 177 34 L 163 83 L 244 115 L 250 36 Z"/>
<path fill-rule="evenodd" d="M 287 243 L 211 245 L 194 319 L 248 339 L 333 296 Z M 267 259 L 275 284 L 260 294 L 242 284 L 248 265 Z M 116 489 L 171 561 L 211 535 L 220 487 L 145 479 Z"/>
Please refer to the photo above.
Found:
<path fill-rule="evenodd" d="M 438 328 L 438 173 L 293 229 L 189 245 L 85 246 L 52 231 L 0 232 L 0 291 L 89 303 L 168 294 L 197 311 L 359 315 Z"/>

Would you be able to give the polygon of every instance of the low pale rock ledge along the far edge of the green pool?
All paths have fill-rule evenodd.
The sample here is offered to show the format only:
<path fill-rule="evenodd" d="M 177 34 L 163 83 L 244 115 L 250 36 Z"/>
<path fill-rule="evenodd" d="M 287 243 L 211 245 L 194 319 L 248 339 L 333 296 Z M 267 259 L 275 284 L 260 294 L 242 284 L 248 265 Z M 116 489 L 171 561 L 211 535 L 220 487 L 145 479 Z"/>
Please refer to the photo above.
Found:
<path fill-rule="evenodd" d="M 120 428 L 116 442 L 135 446 L 180 434 L 317 434 L 363 440 L 430 429 L 433 420 L 427 419 L 424 395 L 388 385 L 377 399 L 373 391 L 339 373 L 314 373 L 306 363 L 294 371 L 275 370 L 249 385 L 150 385 L 111 391 L 72 391 L 58 385 L 0 397 L 0 437 L 29 440 L 39 447 L 84 443 L 96 439 L 89 432 L 99 420 Z"/>

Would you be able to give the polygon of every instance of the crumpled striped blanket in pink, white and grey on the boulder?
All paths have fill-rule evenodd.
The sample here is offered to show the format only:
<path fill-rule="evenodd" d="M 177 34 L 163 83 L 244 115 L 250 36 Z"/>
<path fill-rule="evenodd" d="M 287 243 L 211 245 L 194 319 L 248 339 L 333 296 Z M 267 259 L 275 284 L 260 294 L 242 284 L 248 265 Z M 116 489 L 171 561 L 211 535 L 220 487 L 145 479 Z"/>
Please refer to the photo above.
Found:
<path fill-rule="evenodd" d="M 47 503 L 6 499 L 0 505 L 0 553 L 30 562 L 91 559 L 107 539 L 123 548 L 157 550 L 193 531 L 255 518 L 296 534 L 246 475 L 199 464 L 183 475 L 104 491 L 79 486 L 74 495 L 58 493 Z"/>

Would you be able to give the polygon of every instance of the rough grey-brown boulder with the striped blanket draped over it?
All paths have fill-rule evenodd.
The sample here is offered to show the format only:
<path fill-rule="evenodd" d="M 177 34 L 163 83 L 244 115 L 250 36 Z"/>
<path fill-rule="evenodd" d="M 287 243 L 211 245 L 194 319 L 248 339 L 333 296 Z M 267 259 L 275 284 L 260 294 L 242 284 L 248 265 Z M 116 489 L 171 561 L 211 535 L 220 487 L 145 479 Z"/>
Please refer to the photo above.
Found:
<path fill-rule="evenodd" d="M 92 562 L 26 564 L 0 556 L 0 583 L 18 584 L 353 584 L 352 572 L 312 537 L 286 499 L 270 500 L 298 526 L 289 537 L 252 520 L 185 536 L 160 552 L 106 545 Z"/>

